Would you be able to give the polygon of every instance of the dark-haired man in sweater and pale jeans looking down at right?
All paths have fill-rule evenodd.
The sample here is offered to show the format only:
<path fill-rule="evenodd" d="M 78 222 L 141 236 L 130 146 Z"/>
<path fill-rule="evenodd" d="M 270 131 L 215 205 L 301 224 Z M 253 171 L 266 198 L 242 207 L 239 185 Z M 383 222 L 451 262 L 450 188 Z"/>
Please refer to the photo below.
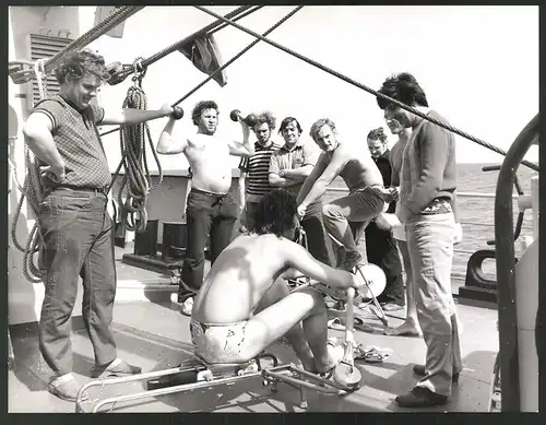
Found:
<path fill-rule="evenodd" d="M 447 122 L 429 109 L 425 92 L 410 73 L 388 78 L 379 92 Z M 450 131 L 389 101 L 378 97 L 377 102 L 403 127 L 412 128 L 412 138 L 403 153 L 396 216 L 406 228 L 417 317 L 427 345 L 425 366 L 414 367 L 414 373 L 423 378 L 410 393 L 396 397 L 395 401 L 407 408 L 446 404 L 452 381 L 458 381 L 463 368 L 451 294 L 455 139 Z"/>

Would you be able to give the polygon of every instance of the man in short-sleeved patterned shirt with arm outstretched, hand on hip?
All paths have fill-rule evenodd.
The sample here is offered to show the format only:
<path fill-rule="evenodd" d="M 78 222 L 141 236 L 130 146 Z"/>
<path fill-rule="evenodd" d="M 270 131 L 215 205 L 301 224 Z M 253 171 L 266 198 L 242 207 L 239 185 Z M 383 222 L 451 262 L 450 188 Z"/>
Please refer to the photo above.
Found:
<path fill-rule="evenodd" d="M 114 225 L 108 212 L 110 168 L 96 126 L 134 126 L 165 117 L 159 110 L 105 111 L 91 104 L 109 78 L 104 58 L 82 50 L 71 52 L 56 69 L 58 95 L 39 102 L 27 118 L 25 142 L 41 166 L 44 199 L 38 222 L 44 239 L 46 286 L 39 319 L 39 347 L 54 370 L 49 391 L 74 401 L 80 389 L 72 375 L 70 316 L 83 281 L 82 315 L 95 352 L 92 377 L 141 371 L 117 357 L 111 332 L 116 295 Z"/>

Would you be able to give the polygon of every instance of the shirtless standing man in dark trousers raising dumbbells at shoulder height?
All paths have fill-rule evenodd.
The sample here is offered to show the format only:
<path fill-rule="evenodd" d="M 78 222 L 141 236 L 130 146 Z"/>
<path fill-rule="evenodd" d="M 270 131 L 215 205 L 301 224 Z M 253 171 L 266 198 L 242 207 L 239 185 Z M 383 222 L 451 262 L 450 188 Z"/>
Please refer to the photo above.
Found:
<path fill-rule="evenodd" d="M 186 206 L 187 248 L 178 288 L 178 303 L 182 314 L 190 316 L 193 295 L 203 283 L 204 249 L 210 238 L 211 262 L 232 239 L 232 229 L 237 220 L 238 209 L 229 196 L 232 186 L 232 161 L 229 155 L 253 155 L 254 146 L 249 143 L 249 127 L 242 127 L 242 143 L 215 135 L 218 125 L 218 106 L 213 101 L 199 102 L 192 111 L 193 123 L 198 127 L 194 135 L 175 135 L 176 119 L 170 118 L 157 142 L 159 154 L 183 153 L 192 170 L 191 191 Z"/>

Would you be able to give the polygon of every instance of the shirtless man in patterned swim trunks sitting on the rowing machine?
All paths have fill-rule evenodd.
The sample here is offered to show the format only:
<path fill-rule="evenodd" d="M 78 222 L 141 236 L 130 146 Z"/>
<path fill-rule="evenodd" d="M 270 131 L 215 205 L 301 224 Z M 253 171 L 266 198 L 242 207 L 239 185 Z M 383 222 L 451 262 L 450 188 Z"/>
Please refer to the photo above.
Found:
<path fill-rule="evenodd" d="M 210 364 L 245 363 L 283 337 L 306 370 L 328 373 L 343 357 L 328 344 L 324 298 L 312 287 L 292 293 L 283 279 L 294 269 L 332 287 L 358 291 L 355 275 L 317 261 L 294 243 L 295 198 L 275 189 L 260 200 L 252 229 L 216 259 L 193 305 L 195 354 Z"/>

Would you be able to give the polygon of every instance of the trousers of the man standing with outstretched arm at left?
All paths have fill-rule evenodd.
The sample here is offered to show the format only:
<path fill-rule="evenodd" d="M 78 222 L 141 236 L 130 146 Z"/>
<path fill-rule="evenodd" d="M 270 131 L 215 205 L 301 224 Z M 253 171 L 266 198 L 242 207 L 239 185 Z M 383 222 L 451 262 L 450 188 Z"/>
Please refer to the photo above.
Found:
<path fill-rule="evenodd" d="M 117 356 L 110 329 L 116 295 L 114 225 L 106 211 L 107 197 L 94 191 L 57 189 L 45 197 L 39 224 L 46 293 L 39 320 L 39 347 L 57 375 L 72 371 L 70 331 L 83 280 L 82 315 L 95 352 L 105 365 Z"/>

